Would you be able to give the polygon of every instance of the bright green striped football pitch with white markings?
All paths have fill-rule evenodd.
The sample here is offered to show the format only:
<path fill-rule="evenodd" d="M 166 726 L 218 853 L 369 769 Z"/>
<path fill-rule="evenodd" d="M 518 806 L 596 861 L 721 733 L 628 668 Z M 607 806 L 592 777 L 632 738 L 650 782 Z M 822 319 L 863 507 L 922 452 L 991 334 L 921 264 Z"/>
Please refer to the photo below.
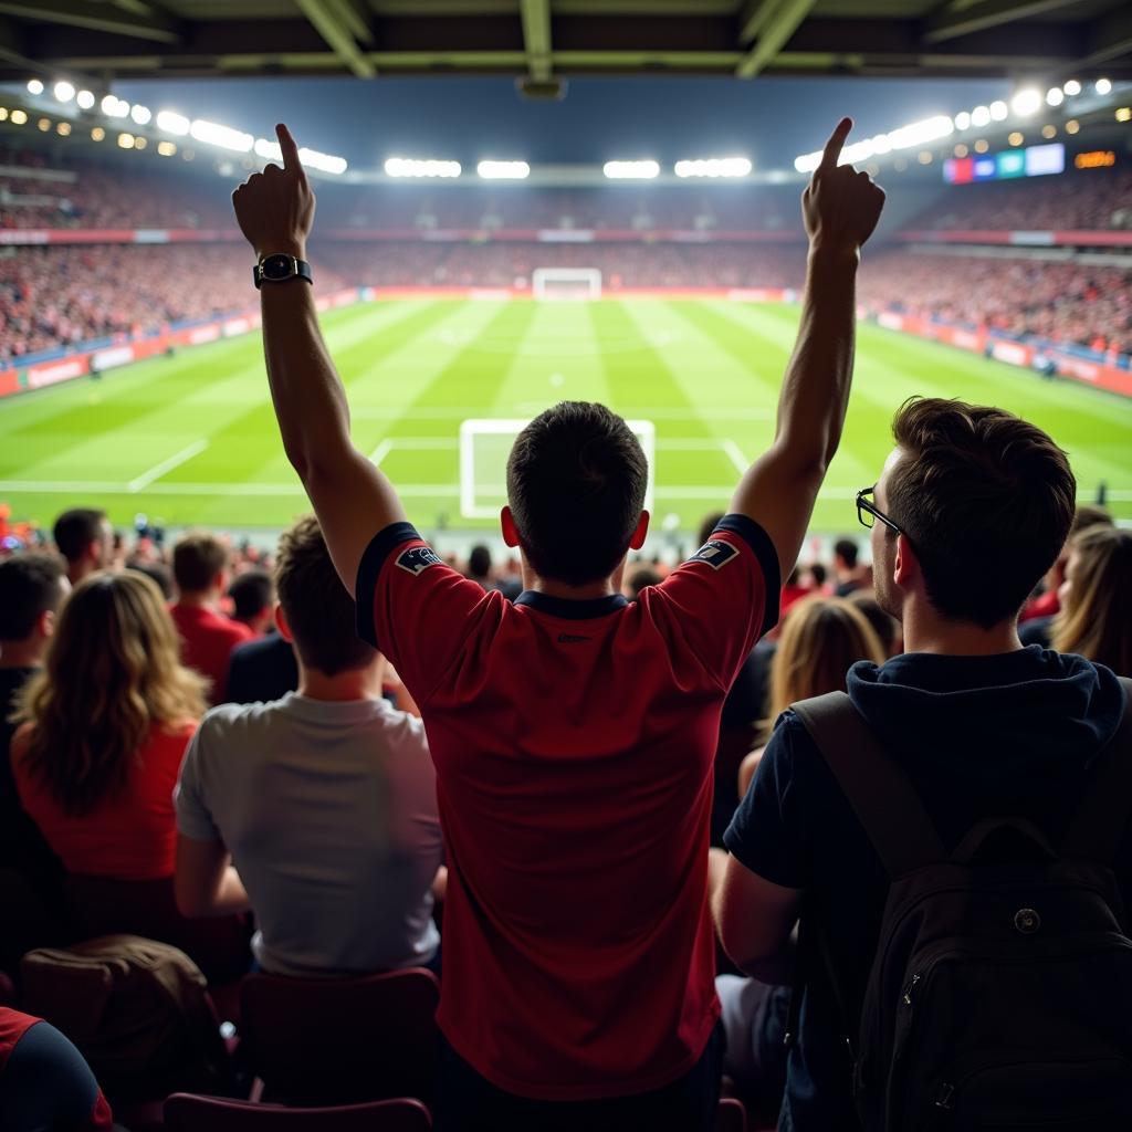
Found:
<path fill-rule="evenodd" d="M 726 507 L 740 470 L 770 443 L 797 320 L 792 307 L 726 301 L 408 299 L 340 309 L 324 326 L 354 440 L 421 530 L 494 526 L 515 422 L 569 398 L 643 422 L 659 531 L 694 529 Z M 854 495 L 876 480 L 892 413 L 915 393 L 1020 413 L 1069 452 L 1082 499 L 1104 482 L 1113 511 L 1132 518 L 1132 401 L 861 326 L 815 531 L 854 529 Z M 170 526 L 285 525 L 306 505 L 258 336 L 0 402 L 0 500 L 14 517 L 44 523 L 101 505 L 119 525 L 138 513 Z"/>

